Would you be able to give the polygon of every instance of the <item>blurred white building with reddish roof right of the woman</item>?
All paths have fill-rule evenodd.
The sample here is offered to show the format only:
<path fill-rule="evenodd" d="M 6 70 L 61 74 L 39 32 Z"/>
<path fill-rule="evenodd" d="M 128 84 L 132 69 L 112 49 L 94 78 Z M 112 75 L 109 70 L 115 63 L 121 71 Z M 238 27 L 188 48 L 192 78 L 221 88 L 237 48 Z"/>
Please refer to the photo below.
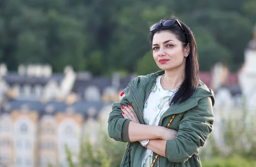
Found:
<path fill-rule="evenodd" d="M 256 128 L 256 26 L 253 34 L 253 40 L 250 40 L 244 51 L 244 63 L 236 73 L 230 73 L 221 63 L 217 63 L 211 73 L 210 87 L 215 92 L 212 135 L 223 153 L 229 152 L 224 144 L 228 122 L 236 131 L 239 130 L 238 121 L 244 121 L 250 129 Z M 250 145 L 249 141 L 247 145 Z"/>

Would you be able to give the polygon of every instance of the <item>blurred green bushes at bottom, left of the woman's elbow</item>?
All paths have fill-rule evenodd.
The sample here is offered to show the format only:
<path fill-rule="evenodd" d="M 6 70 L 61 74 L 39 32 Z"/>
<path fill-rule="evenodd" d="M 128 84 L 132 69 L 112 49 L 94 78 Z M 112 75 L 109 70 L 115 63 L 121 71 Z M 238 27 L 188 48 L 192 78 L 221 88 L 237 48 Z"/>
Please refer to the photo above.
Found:
<path fill-rule="evenodd" d="M 90 136 L 80 144 L 79 162 L 74 162 L 71 151 L 66 147 L 69 167 L 119 167 L 127 143 L 115 142 L 106 132 L 99 130 L 101 142 L 92 143 Z"/>

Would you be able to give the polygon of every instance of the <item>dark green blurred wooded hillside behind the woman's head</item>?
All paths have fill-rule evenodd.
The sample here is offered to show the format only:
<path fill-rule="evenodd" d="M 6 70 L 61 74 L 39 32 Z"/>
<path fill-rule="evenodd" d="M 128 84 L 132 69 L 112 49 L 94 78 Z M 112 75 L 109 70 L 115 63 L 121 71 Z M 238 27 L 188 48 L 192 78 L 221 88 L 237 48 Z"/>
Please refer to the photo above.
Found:
<path fill-rule="evenodd" d="M 256 1 L 3 0 L 0 62 L 9 70 L 49 63 L 54 71 L 72 65 L 96 75 L 146 74 L 155 69 L 145 63 L 152 62 L 145 56 L 151 50 L 148 27 L 169 15 L 195 32 L 200 70 L 209 71 L 217 61 L 237 70 L 252 39 Z"/>

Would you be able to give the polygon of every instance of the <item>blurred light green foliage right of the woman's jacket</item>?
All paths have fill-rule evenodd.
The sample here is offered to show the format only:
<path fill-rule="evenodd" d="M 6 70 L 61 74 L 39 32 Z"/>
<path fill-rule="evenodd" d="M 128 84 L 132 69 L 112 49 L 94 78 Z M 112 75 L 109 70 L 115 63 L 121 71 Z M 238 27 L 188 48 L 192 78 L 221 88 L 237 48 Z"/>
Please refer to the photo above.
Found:
<path fill-rule="evenodd" d="M 244 104 L 246 104 L 245 100 Z M 215 110 L 215 112 L 215 116 L 218 114 L 219 119 L 218 125 L 215 127 L 218 126 L 220 131 L 217 138 L 212 134 L 207 139 L 207 146 L 201 148 L 201 158 L 238 156 L 241 161 L 242 159 L 255 160 L 256 122 L 254 120 L 256 114 L 252 111 L 249 112 L 245 105 L 239 110 L 224 108 L 223 110 Z M 227 114 L 228 117 L 221 115 L 223 113 Z"/>

